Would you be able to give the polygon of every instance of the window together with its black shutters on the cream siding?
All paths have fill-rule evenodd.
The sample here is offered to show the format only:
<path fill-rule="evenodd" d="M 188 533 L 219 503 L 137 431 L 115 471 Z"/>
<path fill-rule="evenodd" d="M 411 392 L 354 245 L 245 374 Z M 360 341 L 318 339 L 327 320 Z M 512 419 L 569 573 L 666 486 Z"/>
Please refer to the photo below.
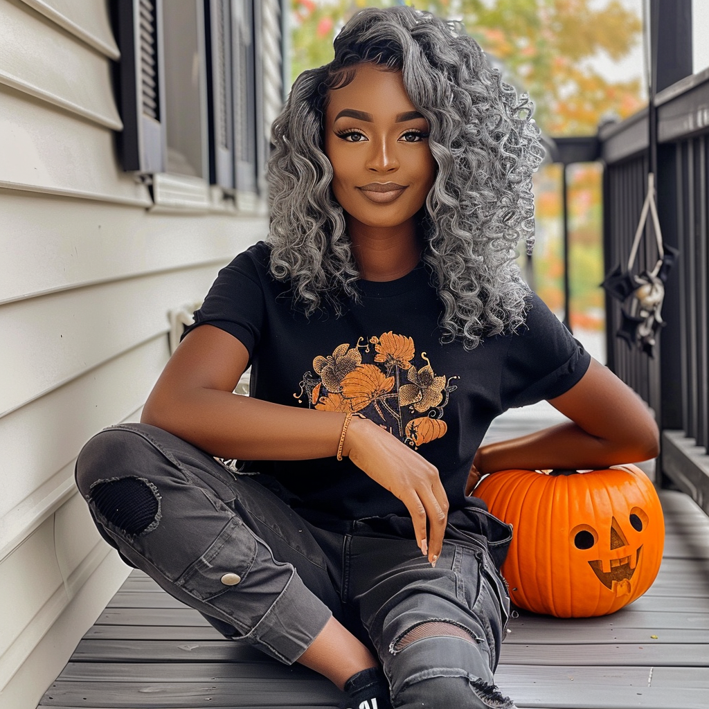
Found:
<path fill-rule="evenodd" d="M 264 95 L 282 100 L 282 0 L 121 0 L 123 168 L 256 194 L 267 157 Z M 264 17 L 265 16 L 265 17 Z M 265 30 L 264 30 L 265 26 Z M 272 56 L 277 54 L 278 56 Z M 278 69 L 279 71 L 279 69 Z M 273 86 L 264 90 L 264 82 Z"/>

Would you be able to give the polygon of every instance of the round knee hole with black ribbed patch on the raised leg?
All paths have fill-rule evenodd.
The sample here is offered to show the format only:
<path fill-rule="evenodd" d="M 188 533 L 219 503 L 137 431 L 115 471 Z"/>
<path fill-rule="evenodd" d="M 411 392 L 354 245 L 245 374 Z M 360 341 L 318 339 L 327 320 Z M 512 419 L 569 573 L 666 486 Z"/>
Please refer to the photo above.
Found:
<path fill-rule="evenodd" d="M 160 520 L 160 493 L 145 478 L 97 480 L 89 500 L 108 522 L 130 535 L 152 530 Z"/>

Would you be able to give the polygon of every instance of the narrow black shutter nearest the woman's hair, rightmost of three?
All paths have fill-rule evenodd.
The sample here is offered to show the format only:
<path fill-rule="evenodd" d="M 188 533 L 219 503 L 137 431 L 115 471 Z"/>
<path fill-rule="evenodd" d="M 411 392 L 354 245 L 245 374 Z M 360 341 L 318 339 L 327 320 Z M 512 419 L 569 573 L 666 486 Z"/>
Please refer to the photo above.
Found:
<path fill-rule="evenodd" d="M 253 0 L 233 0 L 235 186 L 257 191 L 256 50 Z"/>

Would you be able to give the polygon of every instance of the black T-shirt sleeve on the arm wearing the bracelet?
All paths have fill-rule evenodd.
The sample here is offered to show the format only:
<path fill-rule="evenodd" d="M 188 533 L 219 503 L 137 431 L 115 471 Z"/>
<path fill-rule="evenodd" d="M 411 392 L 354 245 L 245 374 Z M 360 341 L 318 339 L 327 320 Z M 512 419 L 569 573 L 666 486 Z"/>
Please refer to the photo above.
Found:
<path fill-rule="evenodd" d="M 265 245 L 259 243 L 242 252 L 220 270 L 201 308 L 194 313 L 194 324 L 185 329 L 182 337 L 200 325 L 213 325 L 240 340 L 252 357 L 266 313 L 262 264 L 259 267 L 263 249 L 259 247 Z"/>

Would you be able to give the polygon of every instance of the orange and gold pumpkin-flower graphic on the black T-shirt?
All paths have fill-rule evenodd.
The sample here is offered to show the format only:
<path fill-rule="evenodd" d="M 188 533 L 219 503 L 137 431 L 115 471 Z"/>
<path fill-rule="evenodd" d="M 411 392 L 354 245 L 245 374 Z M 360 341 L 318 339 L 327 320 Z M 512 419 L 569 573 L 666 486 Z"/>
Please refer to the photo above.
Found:
<path fill-rule="evenodd" d="M 418 360 L 418 361 L 417 361 Z M 389 331 L 337 345 L 313 359 L 303 374 L 300 403 L 319 411 L 359 413 L 414 448 L 445 435 L 443 420 L 458 376 L 436 374 L 425 352 L 416 357 L 411 337 Z"/>

